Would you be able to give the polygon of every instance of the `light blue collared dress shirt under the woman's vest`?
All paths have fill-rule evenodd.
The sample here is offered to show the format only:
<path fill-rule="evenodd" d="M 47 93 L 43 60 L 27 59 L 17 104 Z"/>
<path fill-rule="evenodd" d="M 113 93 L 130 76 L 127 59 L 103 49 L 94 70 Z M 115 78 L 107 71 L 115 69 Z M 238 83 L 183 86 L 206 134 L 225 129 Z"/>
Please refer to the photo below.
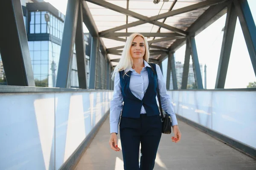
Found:
<path fill-rule="evenodd" d="M 134 69 L 128 68 L 125 69 L 125 72 L 131 71 L 130 85 L 129 88 L 134 94 L 135 97 L 140 100 L 143 99 L 143 96 L 148 88 L 148 70 L 146 67 L 151 67 L 145 60 L 144 67 L 141 70 L 140 74 L 137 73 Z M 172 118 L 172 126 L 177 125 L 176 115 L 173 109 L 173 105 L 170 100 L 170 96 L 167 94 L 166 84 L 163 80 L 163 74 L 161 72 L 160 66 L 156 64 L 156 72 L 158 79 L 158 86 L 161 98 L 162 108 L 165 112 L 171 115 Z M 121 93 L 121 85 L 120 85 L 120 77 L 119 72 L 116 72 L 114 78 L 114 92 L 113 98 L 110 102 L 110 133 L 118 133 L 118 124 L 120 120 L 120 114 L 122 110 L 123 96 Z M 145 114 L 146 111 L 144 107 L 141 107 L 140 114 Z"/>

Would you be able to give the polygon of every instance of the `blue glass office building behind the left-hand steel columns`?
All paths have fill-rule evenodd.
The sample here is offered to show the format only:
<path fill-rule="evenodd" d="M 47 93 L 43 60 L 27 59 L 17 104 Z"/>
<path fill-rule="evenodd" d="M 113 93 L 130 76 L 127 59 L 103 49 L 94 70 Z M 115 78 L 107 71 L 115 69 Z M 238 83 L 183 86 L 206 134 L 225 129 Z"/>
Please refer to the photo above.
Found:
<path fill-rule="evenodd" d="M 35 84 L 36 86 L 53 87 L 58 74 L 65 16 L 50 3 L 26 3 L 22 9 Z M 49 16 L 48 23 L 45 14 Z M 84 36 L 84 38 L 85 44 L 88 45 L 87 40 L 90 35 Z M 85 59 L 87 82 L 89 81 L 89 56 L 87 55 Z M 79 87 L 75 46 L 70 85 L 73 88 Z"/>

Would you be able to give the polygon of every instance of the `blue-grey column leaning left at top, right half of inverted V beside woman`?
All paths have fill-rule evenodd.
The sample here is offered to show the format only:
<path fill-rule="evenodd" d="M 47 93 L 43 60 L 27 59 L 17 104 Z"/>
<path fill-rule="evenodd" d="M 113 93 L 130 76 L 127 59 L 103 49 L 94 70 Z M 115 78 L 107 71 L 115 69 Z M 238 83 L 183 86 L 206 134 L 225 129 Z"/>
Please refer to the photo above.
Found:
<path fill-rule="evenodd" d="M 198 54 L 197 54 L 197 49 L 195 44 L 195 37 L 190 37 L 189 42 L 191 45 L 191 56 L 192 56 L 193 69 L 194 69 L 194 75 L 195 75 L 195 84 L 198 87 L 198 89 L 204 89 L 202 75 L 200 71 L 200 65 L 198 61 Z"/>

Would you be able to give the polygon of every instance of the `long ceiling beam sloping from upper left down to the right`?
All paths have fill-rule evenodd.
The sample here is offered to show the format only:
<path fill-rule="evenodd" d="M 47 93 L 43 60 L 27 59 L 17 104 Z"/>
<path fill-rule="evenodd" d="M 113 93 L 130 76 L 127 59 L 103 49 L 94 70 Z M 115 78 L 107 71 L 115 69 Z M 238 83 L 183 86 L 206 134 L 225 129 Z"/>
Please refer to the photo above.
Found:
<path fill-rule="evenodd" d="M 128 9 L 125 9 L 125 8 L 120 7 L 120 6 L 114 5 L 113 3 L 109 3 L 109 2 L 104 1 L 104 0 L 86 0 L 86 1 L 88 1 L 90 3 L 94 3 L 94 4 L 102 6 L 102 7 L 105 7 L 107 9 L 111 9 L 111 10 L 116 11 L 116 12 L 120 12 L 122 14 L 131 16 L 131 17 L 134 17 L 134 18 L 137 18 L 140 21 L 142 21 L 143 23 L 152 23 L 154 25 L 161 26 L 165 29 L 169 29 L 170 31 L 177 32 L 181 35 L 187 35 L 187 32 L 185 32 L 181 29 L 177 29 L 175 27 L 169 26 L 169 25 L 161 23 L 159 21 L 155 21 L 155 18 L 150 19 L 149 17 L 145 17 L 144 15 L 137 14 L 136 12 L 132 12 Z"/>

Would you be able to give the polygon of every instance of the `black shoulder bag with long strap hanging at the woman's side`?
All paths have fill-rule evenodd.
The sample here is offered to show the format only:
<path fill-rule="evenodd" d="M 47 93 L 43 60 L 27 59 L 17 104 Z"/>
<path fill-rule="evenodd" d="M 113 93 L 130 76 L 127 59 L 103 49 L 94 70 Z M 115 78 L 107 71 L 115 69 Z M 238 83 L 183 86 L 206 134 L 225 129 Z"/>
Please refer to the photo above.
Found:
<path fill-rule="evenodd" d="M 152 66 L 152 64 L 151 63 L 148 63 L 148 64 L 151 66 L 154 74 L 157 76 L 157 73 L 155 72 L 154 67 Z M 158 87 L 158 79 L 157 79 L 157 98 L 158 98 L 160 112 L 161 112 L 162 133 L 170 134 L 172 132 L 172 118 L 166 112 L 164 112 L 163 109 L 162 109 L 162 104 L 161 104 L 161 99 L 160 99 L 160 92 L 159 92 L 159 87 Z"/>

